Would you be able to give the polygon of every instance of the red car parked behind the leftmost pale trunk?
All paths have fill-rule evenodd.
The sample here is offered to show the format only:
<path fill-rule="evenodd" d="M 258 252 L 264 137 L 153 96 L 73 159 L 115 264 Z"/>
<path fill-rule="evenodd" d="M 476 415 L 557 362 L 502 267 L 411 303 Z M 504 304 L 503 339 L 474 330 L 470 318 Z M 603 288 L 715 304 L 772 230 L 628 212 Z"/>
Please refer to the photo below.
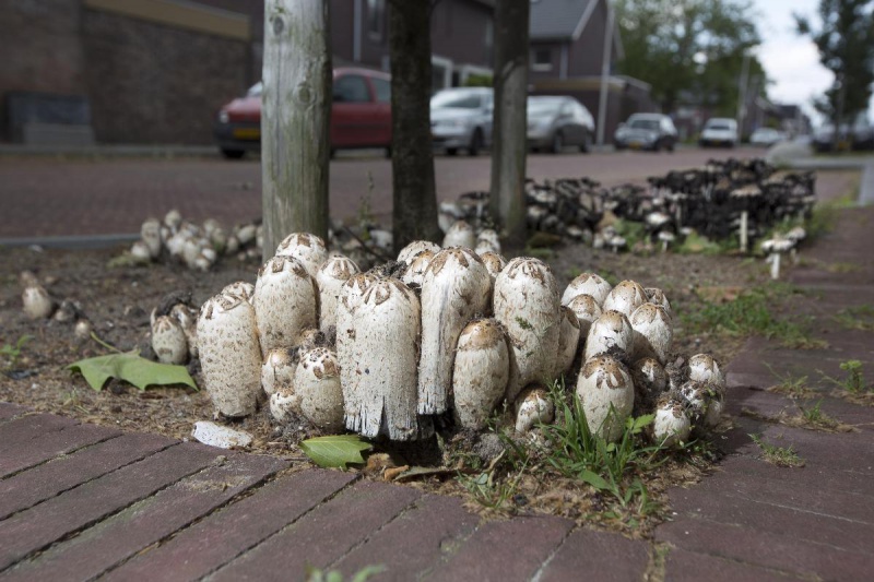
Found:
<path fill-rule="evenodd" d="M 331 152 L 391 149 L 391 76 L 370 69 L 334 69 Z M 218 111 L 215 141 L 228 158 L 261 150 L 261 83 Z"/>

